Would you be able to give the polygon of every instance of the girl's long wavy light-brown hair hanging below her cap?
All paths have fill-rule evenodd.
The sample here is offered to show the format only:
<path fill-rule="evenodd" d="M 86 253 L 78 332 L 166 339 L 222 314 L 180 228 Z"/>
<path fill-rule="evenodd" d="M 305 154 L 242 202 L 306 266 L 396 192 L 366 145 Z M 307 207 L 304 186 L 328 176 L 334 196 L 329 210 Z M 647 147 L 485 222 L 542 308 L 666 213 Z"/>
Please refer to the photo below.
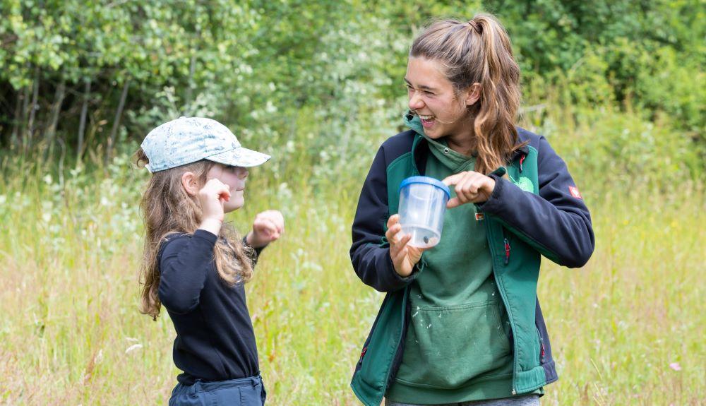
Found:
<path fill-rule="evenodd" d="M 135 153 L 138 166 L 149 163 L 142 148 Z M 160 287 L 160 269 L 157 253 L 160 244 L 169 234 L 193 234 L 201 224 L 201 205 L 196 196 L 190 196 L 181 185 L 181 175 L 192 172 L 201 185 L 206 182 L 208 171 L 215 162 L 201 160 L 189 165 L 166 169 L 152 174 L 142 196 L 140 208 L 145 221 L 145 249 L 140 265 L 140 283 L 143 285 L 140 311 L 154 320 L 160 315 L 162 302 L 157 296 Z M 232 286 L 248 282 L 253 276 L 253 266 L 239 236 L 231 227 L 221 227 L 213 249 L 218 275 Z"/>

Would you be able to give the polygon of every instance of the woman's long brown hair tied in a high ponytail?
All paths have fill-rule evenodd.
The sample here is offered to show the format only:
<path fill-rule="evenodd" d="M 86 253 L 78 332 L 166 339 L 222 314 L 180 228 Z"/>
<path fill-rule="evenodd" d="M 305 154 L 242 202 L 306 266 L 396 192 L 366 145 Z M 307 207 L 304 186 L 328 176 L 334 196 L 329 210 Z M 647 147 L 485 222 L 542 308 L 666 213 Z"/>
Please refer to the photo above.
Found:
<path fill-rule="evenodd" d="M 412 43 L 410 57 L 441 62 L 457 95 L 474 83 L 481 97 L 468 108 L 473 119 L 476 172 L 489 174 L 506 165 L 517 145 L 515 119 L 520 108 L 520 67 L 510 38 L 490 14 L 471 20 L 439 20 Z"/>

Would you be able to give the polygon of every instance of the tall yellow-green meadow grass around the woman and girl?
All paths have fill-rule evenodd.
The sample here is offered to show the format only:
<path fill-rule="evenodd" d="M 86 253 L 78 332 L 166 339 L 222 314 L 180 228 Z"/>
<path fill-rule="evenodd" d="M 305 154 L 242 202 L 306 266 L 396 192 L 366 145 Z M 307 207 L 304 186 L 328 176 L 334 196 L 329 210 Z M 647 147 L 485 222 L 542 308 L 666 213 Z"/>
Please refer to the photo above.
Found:
<path fill-rule="evenodd" d="M 174 329 L 164 310 L 157 321 L 138 313 L 147 174 L 128 168 L 59 177 L 2 162 L 1 404 L 166 404 Z M 229 220 L 246 232 L 278 208 L 287 221 L 247 286 L 268 404 L 357 405 L 349 378 L 383 299 L 348 257 L 359 184 L 313 190 L 258 170 Z M 560 375 L 542 403 L 701 404 L 703 191 L 584 193 L 593 257 L 580 270 L 544 260 L 539 279 Z"/>

